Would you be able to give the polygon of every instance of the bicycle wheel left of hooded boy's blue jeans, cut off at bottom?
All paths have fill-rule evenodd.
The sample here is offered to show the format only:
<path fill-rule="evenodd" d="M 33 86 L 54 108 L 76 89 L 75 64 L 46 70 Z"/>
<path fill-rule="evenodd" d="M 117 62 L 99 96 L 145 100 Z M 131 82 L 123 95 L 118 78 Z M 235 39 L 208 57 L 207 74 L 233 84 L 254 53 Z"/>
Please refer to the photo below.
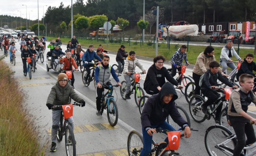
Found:
<path fill-rule="evenodd" d="M 143 137 L 142 135 L 133 130 L 129 133 L 127 139 L 127 149 L 129 156 L 139 156 L 143 149 Z"/>

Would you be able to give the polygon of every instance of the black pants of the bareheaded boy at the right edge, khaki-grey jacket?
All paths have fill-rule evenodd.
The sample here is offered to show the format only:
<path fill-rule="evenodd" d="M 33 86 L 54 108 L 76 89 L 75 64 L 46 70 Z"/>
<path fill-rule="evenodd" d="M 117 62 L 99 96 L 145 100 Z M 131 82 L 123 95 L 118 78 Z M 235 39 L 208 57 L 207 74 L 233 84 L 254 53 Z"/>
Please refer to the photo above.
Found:
<path fill-rule="evenodd" d="M 244 117 L 234 117 L 229 115 L 229 120 L 234 128 L 238 140 L 234 148 L 233 156 L 240 156 L 241 151 L 246 145 L 252 144 L 256 141 L 254 129 L 248 119 Z M 247 136 L 247 140 L 245 140 L 244 134 Z"/>

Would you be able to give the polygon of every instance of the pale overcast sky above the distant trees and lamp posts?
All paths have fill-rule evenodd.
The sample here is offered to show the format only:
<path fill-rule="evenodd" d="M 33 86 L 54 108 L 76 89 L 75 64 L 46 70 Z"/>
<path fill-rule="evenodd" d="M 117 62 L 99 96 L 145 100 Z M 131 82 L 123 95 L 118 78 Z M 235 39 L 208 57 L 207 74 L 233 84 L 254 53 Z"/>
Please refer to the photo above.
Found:
<path fill-rule="evenodd" d="M 3 3 L 2 1 L 1 7 L 0 7 L 0 14 L 9 15 L 11 16 L 17 16 L 20 17 L 21 11 L 21 17 L 26 18 L 26 6 L 22 6 L 22 4 L 27 5 L 27 18 L 29 19 L 30 14 L 30 20 L 37 20 L 38 18 L 38 9 L 37 9 L 37 0 L 9 0 L 5 1 L 6 3 Z M 64 6 L 67 7 L 68 5 L 71 5 L 71 0 L 39 0 L 39 19 L 43 17 L 43 11 L 46 12 L 47 8 L 49 6 L 51 7 L 59 7 L 59 4 L 63 2 Z M 76 0 L 73 0 L 73 4 Z M 86 4 L 86 0 L 83 0 L 84 4 Z M 47 7 L 44 5 L 48 5 Z M 43 10 L 44 6 L 44 10 Z M 57 16 L 56 16 L 57 17 Z"/>

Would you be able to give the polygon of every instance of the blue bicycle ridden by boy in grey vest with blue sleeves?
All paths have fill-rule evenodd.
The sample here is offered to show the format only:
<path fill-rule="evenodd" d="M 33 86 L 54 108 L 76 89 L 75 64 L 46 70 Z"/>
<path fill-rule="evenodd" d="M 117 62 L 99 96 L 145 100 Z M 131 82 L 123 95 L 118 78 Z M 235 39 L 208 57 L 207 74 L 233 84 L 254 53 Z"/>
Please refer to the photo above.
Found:
<path fill-rule="evenodd" d="M 101 110 L 100 114 L 102 115 L 104 109 L 107 109 L 107 117 L 108 122 L 111 126 L 116 126 L 118 120 L 118 109 L 115 102 L 115 98 L 112 96 L 113 87 L 118 87 L 119 85 L 102 85 L 103 88 L 107 88 L 108 92 L 104 94 L 102 92 L 102 99 L 101 99 Z"/>

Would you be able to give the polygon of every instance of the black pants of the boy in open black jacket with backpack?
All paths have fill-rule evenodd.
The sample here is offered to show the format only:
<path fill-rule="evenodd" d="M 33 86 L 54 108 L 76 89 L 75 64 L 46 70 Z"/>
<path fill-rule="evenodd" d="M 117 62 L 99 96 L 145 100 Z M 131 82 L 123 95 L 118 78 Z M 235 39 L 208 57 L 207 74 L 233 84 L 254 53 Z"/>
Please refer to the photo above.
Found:
<path fill-rule="evenodd" d="M 208 98 L 208 100 L 203 104 L 203 106 L 210 106 L 214 101 L 216 101 L 220 94 L 218 92 L 215 92 L 213 90 L 202 90 L 203 94 Z M 222 103 L 218 106 L 216 109 L 216 118 L 215 120 L 219 120 L 219 115 L 222 110 Z"/>

